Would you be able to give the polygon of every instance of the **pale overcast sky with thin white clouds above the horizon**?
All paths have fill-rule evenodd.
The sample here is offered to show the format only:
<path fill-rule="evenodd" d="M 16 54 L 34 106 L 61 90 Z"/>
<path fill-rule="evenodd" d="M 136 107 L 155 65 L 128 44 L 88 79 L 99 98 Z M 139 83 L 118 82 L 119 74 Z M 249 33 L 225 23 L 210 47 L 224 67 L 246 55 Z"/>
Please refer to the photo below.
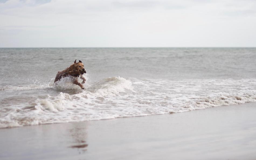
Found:
<path fill-rule="evenodd" d="M 0 0 L 0 47 L 256 47 L 256 0 Z"/>

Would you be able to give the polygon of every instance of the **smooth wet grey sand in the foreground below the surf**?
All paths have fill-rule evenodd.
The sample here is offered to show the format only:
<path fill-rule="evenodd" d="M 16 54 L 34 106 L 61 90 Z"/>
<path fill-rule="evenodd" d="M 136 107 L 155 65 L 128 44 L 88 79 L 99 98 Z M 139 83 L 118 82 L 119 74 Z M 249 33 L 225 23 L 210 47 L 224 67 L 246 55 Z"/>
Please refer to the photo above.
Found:
<path fill-rule="evenodd" d="M 0 159 L 256 159 L 256 103 L 0 129 Z"/>

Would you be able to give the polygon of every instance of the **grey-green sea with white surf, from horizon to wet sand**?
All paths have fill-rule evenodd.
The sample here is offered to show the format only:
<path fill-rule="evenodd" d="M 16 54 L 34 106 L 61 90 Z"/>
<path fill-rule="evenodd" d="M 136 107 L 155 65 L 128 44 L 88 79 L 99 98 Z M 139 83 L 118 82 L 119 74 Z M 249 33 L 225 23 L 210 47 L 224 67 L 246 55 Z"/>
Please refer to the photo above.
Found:
<path fill-rule="evenodd" d="M 81 60 L 85 89 L 58 71 Z M 0 48 L 0 128 L 256 102 L 256 48 Z"/>

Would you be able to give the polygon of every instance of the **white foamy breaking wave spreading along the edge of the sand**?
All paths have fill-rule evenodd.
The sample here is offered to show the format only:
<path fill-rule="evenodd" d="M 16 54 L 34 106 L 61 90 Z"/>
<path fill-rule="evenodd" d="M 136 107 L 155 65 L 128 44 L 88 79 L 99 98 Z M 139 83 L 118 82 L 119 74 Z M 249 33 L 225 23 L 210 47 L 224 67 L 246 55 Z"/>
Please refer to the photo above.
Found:
<path fill-rule="evenodd" d="M 60 81 L 54 89 L 79 89 Z M 255 79 L 150 80 L 111 77 L 70 95 L 37 99 L 29 106 L 12 106 L 0 127 L 101 120 L 118 117 L 187 112 L 215 106 L 256 102 Z"/>

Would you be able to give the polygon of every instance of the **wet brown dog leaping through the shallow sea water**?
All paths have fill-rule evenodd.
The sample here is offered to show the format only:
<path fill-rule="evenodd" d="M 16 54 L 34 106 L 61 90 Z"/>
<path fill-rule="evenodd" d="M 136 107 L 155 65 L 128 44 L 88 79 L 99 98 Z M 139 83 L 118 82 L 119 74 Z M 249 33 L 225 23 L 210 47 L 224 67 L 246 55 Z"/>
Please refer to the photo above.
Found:
<path fill-rule="evenodd" d="M 84 64 L 82 63 L 82 61 L 77 62 L 77 60 L 75 60 L 74 64 L 70 65 L 70 67 L 57 73 L 54 83 L 59 81 L 63 77 L 72 76 L 72 82 L 76 85 L 79 85 L 82 89 L 84 89 L 84 86 L 82 84 L 85 83 L 86 79 L 83 76 L 81 76 L 84 73 L 86 73 L 86 71 L 84 69 Z M 79 76 L 83 80 L 82 84 L 79 83 L 75 78 Z"/>

